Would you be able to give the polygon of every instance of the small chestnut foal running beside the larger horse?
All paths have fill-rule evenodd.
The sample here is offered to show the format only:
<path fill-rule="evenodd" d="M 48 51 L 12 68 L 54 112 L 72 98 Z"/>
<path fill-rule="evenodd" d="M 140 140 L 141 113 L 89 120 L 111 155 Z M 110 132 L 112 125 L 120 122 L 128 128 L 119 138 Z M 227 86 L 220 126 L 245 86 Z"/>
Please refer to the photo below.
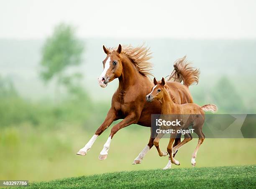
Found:
<path fill-rule="evenodd" d="M 205 139 L 205 135 L 202 132 L 202 127 L 205 122 L 205 112 L 211 111 L 216 112 L 217 107 L 214 104 L 205 104 L 202 107 L 200 107 L 197 104 L 187 103 L 187 104 L 175 104 L 172 100 L 172 98 L 169 95 L 169 92 L 173 92 L 172 90 L 169 90 L 169 86 L 166 85 L 166 82 L 164 78 L 162 78 L 161 82 L 157 82 L 156 78 L 154 78 L 154 84 L 152 91 L 146 96 L 146 100 L 148 102 L 151 102 L 152 100 L 157 100 L 161 104 L 161 119 L 164 117 L 168 117 L 168 115 L 171 115 L 169 117 L 170 120 L 181 120 L 181 125 L 175 125 L 175 126 L 161 126 L 160 130 L 167 130 L 167 129 L 173 129 L 173 133 L 170 134 L 170 141 L 167 147 L 167 152 L 169 154 L 169 162 L 164 167 L 164 169 L 170 169 L 172 164 L 179 165 L 179 161 L 174 159 L 173 154 L 177 152 L 179 148 L 182 147 L 182 145 L 186 144 L 190 140 L 192 140 L 191 135 L 184 135 L 184 140 L 179 143 L 177 146 L 172 147 L 172 144 L 174 142 L 174 139 L 177 135 L 177 130 L 179 129 L 187 129 L 189 126 L 192 125 L 192 129 L 194 129 L 195 133 L 198 135 L 198 143 L 197 147 L 192 154 L 191 164 L 194 167 L 196 162 L 195 158 L 197 156 L 197 151 L 200 147 L 200 145 L 203 143 Z M 168 91 L 167 91 L 168 90 Z M 205 111 L 205 112 L 204 112 Z M 167 118 L 164 119 L 165 121 L 169 121 Z M 161 150 L 159 148 L 159 141 L 161 137 L 163 137 L 163 133 L 160 132 L 156 139 L 154 139 L 154 145 L 156 146 L 156 149 L 159 152 L 159 155 L 161 156 Z"/>

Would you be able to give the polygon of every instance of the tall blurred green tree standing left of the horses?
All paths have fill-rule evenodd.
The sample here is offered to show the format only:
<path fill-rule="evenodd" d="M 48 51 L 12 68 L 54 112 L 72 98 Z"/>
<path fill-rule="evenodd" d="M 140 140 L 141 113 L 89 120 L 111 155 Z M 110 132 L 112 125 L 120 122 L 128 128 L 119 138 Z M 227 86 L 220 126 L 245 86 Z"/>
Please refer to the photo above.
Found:
<path fill-rule="evenodd" d="M 81 64 L 83 50 L 84 46 L 75 36 L 74 27 L 64 23 L 57 25 L 42 48 L 41 78 L 45 82 L 55 79 L 56 90 L 69 83 L 67 80 L 72 77 L 65 77 L 64 71 L 69 66 Z"/>

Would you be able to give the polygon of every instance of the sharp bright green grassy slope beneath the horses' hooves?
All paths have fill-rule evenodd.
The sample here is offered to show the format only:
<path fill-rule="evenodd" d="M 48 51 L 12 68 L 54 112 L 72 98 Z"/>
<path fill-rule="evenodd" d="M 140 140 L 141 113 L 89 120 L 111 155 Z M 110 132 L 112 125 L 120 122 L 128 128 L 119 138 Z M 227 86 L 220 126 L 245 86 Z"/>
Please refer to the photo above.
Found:
<path fill-rule="evenodd" d="M 50 182 L 28 188 L 255 188 L 256 165 L 114 172 Z"/>

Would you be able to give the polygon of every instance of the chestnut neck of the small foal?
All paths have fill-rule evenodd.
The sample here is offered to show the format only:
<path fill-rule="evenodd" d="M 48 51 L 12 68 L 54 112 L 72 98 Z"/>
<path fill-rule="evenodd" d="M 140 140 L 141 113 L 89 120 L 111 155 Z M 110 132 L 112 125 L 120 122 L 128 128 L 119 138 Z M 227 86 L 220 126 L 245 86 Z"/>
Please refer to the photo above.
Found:
<path fill-rule="evenodd" d="M 172 101 L 172 98 L 166 88 L 164 88 L 163 93 L 163 98 L 159 100 L 161 103 L 161 114 L 170 114 L 170 112 L 173 112 L 177 104 Z"/>

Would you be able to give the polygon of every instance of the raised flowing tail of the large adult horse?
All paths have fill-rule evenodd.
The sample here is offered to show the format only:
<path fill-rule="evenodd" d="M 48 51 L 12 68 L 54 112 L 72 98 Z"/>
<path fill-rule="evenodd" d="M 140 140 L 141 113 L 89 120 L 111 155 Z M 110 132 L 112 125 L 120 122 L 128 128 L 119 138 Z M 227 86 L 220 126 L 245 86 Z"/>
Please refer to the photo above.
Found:
<path fill-rule="evenodd" d="M 168 81 L 182 82 L 183 85 L 189 87 L 193 83 L 198 83 L 200 70 L 190 66 L 190 62 L 186 60 L 186 56 L 174 62 L 174 70 L 172 71 Z"/>

